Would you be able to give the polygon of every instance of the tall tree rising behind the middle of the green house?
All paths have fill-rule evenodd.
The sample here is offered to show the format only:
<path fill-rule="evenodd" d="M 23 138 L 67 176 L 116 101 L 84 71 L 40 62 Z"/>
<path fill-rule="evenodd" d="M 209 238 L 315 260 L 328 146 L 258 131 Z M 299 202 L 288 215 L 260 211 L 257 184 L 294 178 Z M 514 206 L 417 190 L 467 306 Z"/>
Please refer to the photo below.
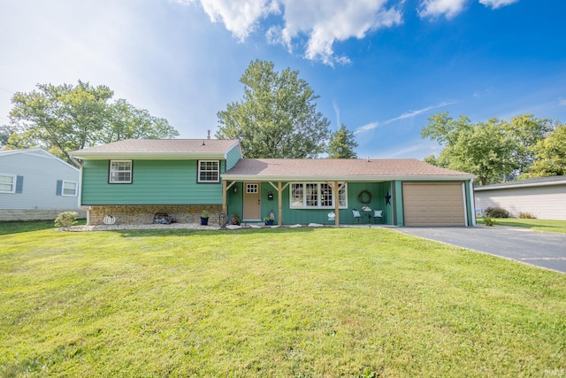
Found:
<path fill-rule="evenodd" d="M 330 122 L 298 71 L 278 73 L 272 62 L 255 60 L 240 81 L 241 101 L 217 114 L 218 139 L 239 139 L 246 158 L 315 158 L 325 151 Z"/>

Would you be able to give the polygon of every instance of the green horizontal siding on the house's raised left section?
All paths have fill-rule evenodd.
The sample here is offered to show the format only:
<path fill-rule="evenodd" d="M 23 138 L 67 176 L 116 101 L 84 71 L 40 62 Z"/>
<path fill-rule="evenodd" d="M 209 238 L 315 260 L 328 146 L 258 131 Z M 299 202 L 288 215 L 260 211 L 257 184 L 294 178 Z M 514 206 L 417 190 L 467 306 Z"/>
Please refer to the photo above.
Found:
<path fill-rule="evenodd" d="M 85 161 L 81 204 L 222 204 L 220 182 L 196 182 L 196 160 L 134 160 L 131 184 L 109 184 L 108 168 Z"/>

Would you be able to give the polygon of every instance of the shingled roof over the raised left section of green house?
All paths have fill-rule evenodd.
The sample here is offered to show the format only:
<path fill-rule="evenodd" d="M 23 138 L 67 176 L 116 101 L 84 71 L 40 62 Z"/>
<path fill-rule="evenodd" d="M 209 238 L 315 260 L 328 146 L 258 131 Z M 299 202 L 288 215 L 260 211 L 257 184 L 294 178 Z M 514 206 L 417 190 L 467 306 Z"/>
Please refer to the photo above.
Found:
<path fill-rule="evenodd" d="M 83 159 L 226 158 L 226 153 L 239 143 L 240 141 L 238 140 L 206 138 L 126 139 L 82 150 L 74 150 L 71 152 L 71 155 L 75 158 Z"/>

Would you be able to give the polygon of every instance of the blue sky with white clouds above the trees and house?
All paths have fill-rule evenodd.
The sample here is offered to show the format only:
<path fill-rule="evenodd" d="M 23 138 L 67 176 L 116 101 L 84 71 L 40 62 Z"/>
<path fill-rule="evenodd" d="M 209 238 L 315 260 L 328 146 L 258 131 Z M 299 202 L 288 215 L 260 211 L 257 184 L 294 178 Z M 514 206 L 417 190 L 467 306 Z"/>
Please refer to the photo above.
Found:
<path fill-rule="evenodd" d="M 300 72 L 360 158 L 424 158 L 435 112 L 566 122 L 564 0 L 0 0 L 0 123 L 36 83 L 107 85 L 181 138 L 256 58 Z"/>

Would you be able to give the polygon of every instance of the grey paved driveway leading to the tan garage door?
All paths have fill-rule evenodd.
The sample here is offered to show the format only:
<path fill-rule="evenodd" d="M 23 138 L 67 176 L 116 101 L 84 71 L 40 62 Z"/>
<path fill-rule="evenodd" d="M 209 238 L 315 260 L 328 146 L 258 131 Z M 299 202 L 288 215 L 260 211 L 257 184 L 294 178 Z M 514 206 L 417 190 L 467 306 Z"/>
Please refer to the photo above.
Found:
<path fill-rule="evenodd" d="M 564 234 L 549 234 L 531 231 L 527 228 L 503 226 L 394 229 L 404 234 L 566 273 L 566 235 Z"/>

